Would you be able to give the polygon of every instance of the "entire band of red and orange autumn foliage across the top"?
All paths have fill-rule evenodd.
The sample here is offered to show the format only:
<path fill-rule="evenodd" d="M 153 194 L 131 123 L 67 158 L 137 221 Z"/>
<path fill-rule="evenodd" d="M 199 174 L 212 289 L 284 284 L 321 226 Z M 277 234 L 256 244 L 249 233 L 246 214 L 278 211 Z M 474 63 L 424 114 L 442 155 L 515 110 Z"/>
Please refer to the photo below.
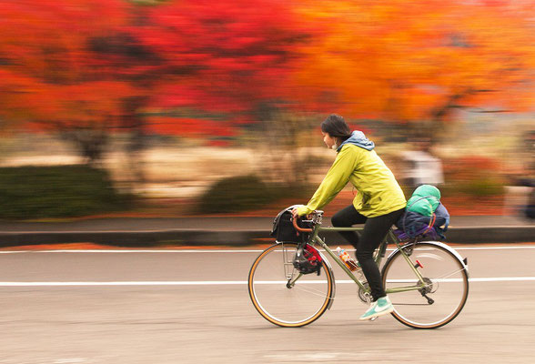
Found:
<path fill-rule="evenodd" d="M 273 100 L 397 123 L 529 110 L 533 18 L 527 0 L 3 1 L 0 113 L 109 128 L 136 96 L 129 116 L 152 104 L 249 120 Z M 158 130 L 195 134 L 171 122 Z"/>

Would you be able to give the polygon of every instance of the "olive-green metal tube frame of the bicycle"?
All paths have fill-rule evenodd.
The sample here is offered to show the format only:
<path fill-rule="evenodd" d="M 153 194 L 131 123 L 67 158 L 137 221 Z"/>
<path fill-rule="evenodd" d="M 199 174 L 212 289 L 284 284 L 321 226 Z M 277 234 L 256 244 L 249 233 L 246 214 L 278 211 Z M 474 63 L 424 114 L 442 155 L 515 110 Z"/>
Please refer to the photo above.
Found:
<path fill-rule="evenodd" d="M 338 266 L 340 268 L 342 268 L 342 270 L 344 270 L 344 272 L 346 272 L 348 277 L 351 278 L 358 285 L 359 288 L 361 288 L 365 292 L 369 293 L 370 289 L 365 287 L 362 284 L 362 282 L 360 282 L 360 280 L 357 277 L 355 277 L 353 272 L 346 266 L 346 264 L 340 258 L 338 258 L 338 255 L 335 252 L 333 252 L 331 248 L 328 247 L 327 243 L 324 240 L 322 240 L 321 238 L 318 237 L 318 234 L 320 232 L 322 232 L 322 231 L 358 231 L 360 229 L 361 229 L 360 227 L 322 227 L 320 224 L 317 224 L 317 225 L 314 226 L 314 228 L 312 230 L 312 233 L 310 235 L 310 238 L 308 238 L 308 243 L 310 243 L 312 245 L 313 245 L 313 243 L 317 243 L 321 248 L 324 248 L 325 251 L 330 256 L 330 258 L 333 258 L 337 262 Z M 399 248 L 399 250 L 401 252 L 401 255 L 403 256 L 403 258 L 405 258 L 405 260 L 407 261 L 407 264 L 409 264 L 409 267 L 412 269 L 412 271 L 414 272 L 415 276 L 418 278 L 418 283 L 416 285 L 412 285 L 412 286 L 404 286 L 404 287 L 397 287 L 397 288 L 387 288 L 386 289 L 386 293 L 389 294 L 389 293 L 397 293 L 397 292 L 407 292 L 409 290 L 417 290 L 417 289 L 425 288 L 427 286 L 427 283 L 424 281 L 423 277 L 419 273 L 419 270 L 416 268 L 417 265 L 415 265 L 410 260 L 409 256 L 405 252 L 405 249 L 403 249 L 407 245 L 403 245 L 403 246 L 401 245 L 401 243 L 399 242 L 399 239 L 396 237 L 396 235 L 394 234 L 392 229 L 389 230 L 389 233 L 387 234 L 387 237 L 381 242 L 381 244 L 379 245 L 379 248 L 376 249 L 376 251 L 375 251 L 374 260 L 375 260 L 376 264 L 378 265 L 378 267 L 380 266 L 380 262 L 381 262 L 382 258 L 385 257 L 385 253 L 387 251 L 387 246 L 388 246 L 389 240 L 391 242 L 393 242 L 394 244 L 396 244 L 397 248 Z M 410 243 L 409 243 L 409 245 L 410 245 Z"/>

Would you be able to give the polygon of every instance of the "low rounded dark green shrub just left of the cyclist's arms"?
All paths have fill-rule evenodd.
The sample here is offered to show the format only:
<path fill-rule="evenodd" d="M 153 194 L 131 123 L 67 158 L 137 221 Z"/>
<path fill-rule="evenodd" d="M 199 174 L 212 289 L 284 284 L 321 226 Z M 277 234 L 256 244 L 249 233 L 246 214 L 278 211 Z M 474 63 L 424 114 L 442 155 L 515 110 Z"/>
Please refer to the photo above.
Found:
<path fill-rule="evenodd" d="M 269 184 L 254 175 L 228 177 L 217 181 L 198 201 L 202 214 L 238 212 L 266 206 L 284 197 L 301 197 L 306 187 Z"/>

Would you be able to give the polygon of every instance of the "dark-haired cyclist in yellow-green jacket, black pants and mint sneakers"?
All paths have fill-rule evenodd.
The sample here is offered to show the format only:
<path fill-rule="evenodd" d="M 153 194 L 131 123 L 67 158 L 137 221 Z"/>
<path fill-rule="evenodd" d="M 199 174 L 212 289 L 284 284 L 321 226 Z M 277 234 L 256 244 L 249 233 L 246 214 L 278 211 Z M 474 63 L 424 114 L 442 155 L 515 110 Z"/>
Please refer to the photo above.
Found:
<path fill-rule="evenodd" d="M 361 131 L 351 132 L 342 116 L 328 116 L 321 123 L 321 134 L 327 147 L 338 155 L 308 204 L 296 207 L 292 214 L 300 217 L 324 207 L 348 181 L 357 189 L 353 203 L 338 211 L 331 222 L 334 227 L 365 224 L 361 234 L 353 231 L 340 234 L 357 249 L 358 263 L 371 288 L 372 303 L 360 319 L 373 319 L 394 310 L 373 252 L 401 217 L 407 201 L 389 167 L 375 152 L 374 143 Z"/>

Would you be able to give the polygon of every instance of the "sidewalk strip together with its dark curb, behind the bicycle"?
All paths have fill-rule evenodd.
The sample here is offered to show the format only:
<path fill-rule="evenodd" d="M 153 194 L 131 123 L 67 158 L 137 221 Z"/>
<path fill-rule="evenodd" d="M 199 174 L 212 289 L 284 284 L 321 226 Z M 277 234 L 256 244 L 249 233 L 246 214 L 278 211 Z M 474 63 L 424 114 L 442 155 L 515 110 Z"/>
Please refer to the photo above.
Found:
<path fill-rule="evenodd" d="M 90 242 L 117 247 L 266 244 L 273 217 L 108 217 L 67 222 L 0 221 L 0 248 Z M 324 219 L 330 225 L 330 219 Z M 535 242 L 535 221 L 520 217 L 451 217 L 447 242 Z M 327 241 L 339 241 L 337 233 Z"/>

